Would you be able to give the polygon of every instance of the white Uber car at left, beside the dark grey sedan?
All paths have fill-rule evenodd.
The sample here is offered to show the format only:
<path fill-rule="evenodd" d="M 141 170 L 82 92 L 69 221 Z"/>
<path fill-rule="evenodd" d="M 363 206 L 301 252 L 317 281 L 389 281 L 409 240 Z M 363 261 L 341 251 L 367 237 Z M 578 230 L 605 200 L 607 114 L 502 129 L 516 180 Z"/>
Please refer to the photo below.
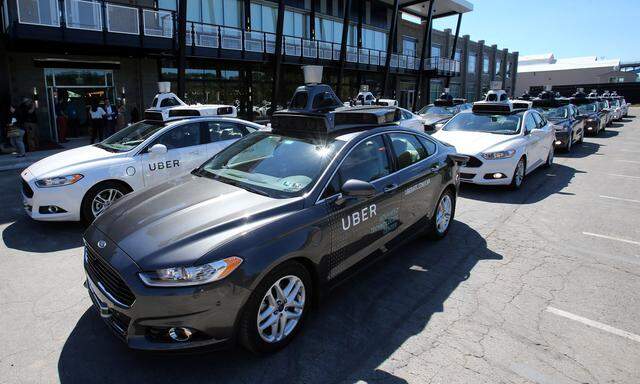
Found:
<path fill-rule="evenodd" d="M 228 107 L 157 111 L 101 143 L 49 156 L 24 170 L 24 209 L 35 220 L 90 223 L 126 193 L 191 172 L 231 143 L 264 127 L 216 116 Z"/>

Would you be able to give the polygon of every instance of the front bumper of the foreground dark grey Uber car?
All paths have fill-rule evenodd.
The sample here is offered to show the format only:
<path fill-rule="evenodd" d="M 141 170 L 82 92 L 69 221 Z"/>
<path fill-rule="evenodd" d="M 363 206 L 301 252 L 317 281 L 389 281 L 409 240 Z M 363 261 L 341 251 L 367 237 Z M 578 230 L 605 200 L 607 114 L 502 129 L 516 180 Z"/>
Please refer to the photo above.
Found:
<path fill-rule="evenodd" d="M 98 253 L 90 246 L 100 241 L 96 239 L 105 240 L 99 231 L 88 231 L 84 262 L 86 286 L 100 316 L 128 347 L 171 351 L 221 349 L 232 343 L 236 320 L 251 293 L 249 290 L 227 280 L 193 287 L 148 287 L 138 277 L 140 269 L 128 255 L 109 240 Z M 91 254 L 87 257 L 86 252 Z M 96 257 L 105 263 L 102 271 L 110 270 L 109 279 L 89 265 L 95 263 L 89 259 Z M 117 278 L 134 295 L 132 302 L 120 300 L 124 288 L 118 285 L 114 289 L 111 280 Z M 182 342 L 172 340 L 168 331 L 173 327 L 189 328 L 192 338 Z"/>

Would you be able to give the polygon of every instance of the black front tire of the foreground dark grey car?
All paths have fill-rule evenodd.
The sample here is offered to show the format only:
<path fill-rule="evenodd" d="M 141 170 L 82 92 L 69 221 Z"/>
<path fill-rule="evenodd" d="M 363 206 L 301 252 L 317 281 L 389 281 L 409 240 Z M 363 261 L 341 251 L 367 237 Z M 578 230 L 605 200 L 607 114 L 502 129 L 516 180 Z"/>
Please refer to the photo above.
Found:
<path fill-rule="evenodd" d="M 279 294 L 275 286 L 278 284 L 281 292 L 283 292 L 286 291 L 289 282 L 300 282 L 302 287 L 294 296 L 295 301 L 287 302 L 283 297 L 277 297 Z M 242 346 L 255 354 L 262 355 L 274 353 L 289 344 L 302 328 L 304 320 L 311 308 L 311 298 L 313 297 L 312 289 L 309 271 L 298 262 L 285 262 L 269 272 L 253 291 L 242 312 L 238 331 L 238 338 Z M 267 295 L 271 295 L 274 304 L 276 304 L 275 300 L 278 300 L 277 307 L 268 305 L 270 300 Z M 274 297 L 274 295 L 276 297 Z M 291 297 L 289 299 L 291 299 Z M 296 306 L 296 304 L 298 304 L 298 306 Z M 299 307 L 300 304 L 302 304 L 301 307 Z M 301 309 L 301 312 L 294 313 L 296 309 Z M 265 317 L 265 319 L 260 320 L 258 318 L 258 314 L 261 311 L 265 313 L 269 310 L 272 312 L 270 312 L 270 315 Z M 292 315 L 297 314 L 298 317 L 296 319 L 291 319 L 297 321 L 295 323 L 288 323 L 289 320 L 286 318 L 286 313 Z M 274 318 L 274 316 L 275 330 L 273 326 L 267 326 L 261 333 L 258 330 L 260 321 L 262 321 L 262 324 L 265 324 Z M 285 324 L 284 327 L 282 326 L 283 321 Z M 290 324 L 292 324 L 292 327 L 287 330 Z M 281 330 L 283 331 L 280 333 Z M 270 336 L 273 336 L 273 338 L 268 340 Z"/>

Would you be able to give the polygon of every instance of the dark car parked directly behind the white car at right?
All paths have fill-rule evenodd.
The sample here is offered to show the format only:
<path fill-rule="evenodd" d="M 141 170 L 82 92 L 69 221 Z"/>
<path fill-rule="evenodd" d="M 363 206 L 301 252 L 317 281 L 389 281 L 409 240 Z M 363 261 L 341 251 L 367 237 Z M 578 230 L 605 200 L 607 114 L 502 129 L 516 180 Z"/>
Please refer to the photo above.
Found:
<path fill-rule="evenodd" d="M 539 110 L 556 132 L 554 145 L 567 152 L 575 143 L 584 141 L 584 121 L 578 118 L 578 108 L 567 98 L 556 98 L 551 92 L 543 92 L 532 100 L 532 108 Z"/>

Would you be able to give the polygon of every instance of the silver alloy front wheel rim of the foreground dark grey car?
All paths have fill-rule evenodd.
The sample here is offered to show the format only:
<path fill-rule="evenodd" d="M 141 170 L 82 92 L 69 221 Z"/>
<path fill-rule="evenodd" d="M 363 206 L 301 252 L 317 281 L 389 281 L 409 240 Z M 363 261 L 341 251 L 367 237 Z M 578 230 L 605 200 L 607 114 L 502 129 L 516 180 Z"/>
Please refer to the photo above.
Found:
<path fill-rule="evenodd" d="M 276 343 L 291 334 L 304 311 L 306 296 L 302 280 L 288 275 L 276 281 L 260 302 L 258 334 L 267 343 Z"/>

